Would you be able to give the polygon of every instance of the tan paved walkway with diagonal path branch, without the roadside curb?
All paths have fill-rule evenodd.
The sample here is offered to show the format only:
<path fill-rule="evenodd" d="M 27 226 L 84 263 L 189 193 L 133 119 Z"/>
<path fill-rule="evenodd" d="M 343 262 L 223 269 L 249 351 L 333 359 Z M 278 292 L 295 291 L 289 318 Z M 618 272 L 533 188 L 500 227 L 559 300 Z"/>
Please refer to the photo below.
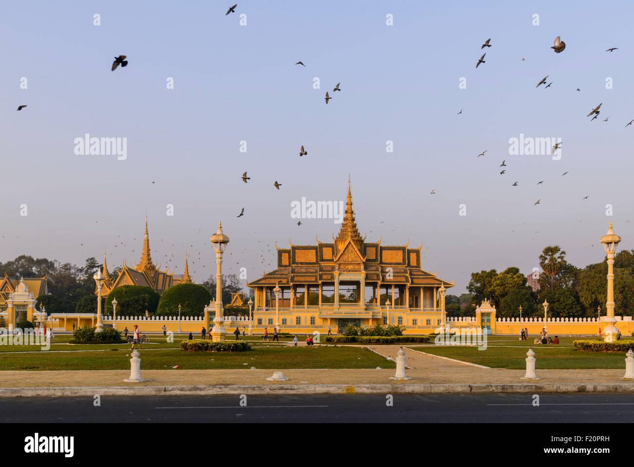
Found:
<path fill-rule="evenodd" d="M 386 357 L 396 357 L 399 346 L 370 346 L 372 350 Z M 284 370 L 289 385 L 363 385 L 363 384 L 461 384 L 461 385 L 504 385 L 532 384 L 534 381 L 521 379 L 524 370 L 507 370 L 478 367 L 457 360 L 428 355 L 406 348 L 406 364 L 410 369 L 408 381 L 391 381 L 394 369 L 293 369 Z M 597 383 L 626 383 L 623 380 L 625 368 L 540 370 L 537 362 L 539 383 L 576 383 L 580 385 Z M 0 388 L 53 388 L 62 386 L 125 386 L 123 379 L 129 371 L 2 371 Z M 280 385 L 266 381 L 273 370 L 143 370 L 141 376 L 148 379 L 134 386 L 182 386 L 182 385 Z"/>

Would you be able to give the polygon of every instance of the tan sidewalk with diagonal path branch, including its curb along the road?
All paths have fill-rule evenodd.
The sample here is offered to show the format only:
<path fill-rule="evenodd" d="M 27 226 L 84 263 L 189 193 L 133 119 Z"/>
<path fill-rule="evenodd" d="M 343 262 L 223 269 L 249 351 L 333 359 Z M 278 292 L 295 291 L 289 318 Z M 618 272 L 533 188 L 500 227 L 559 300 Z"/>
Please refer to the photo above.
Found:
<path fill-rule="evenodd" d="M 372 346 L 396 357 L 399 346 Z M 377 392 L 634 392 L 623 370 L 540 370 L 537 381 L 524 370 L 487 368 L 405 348 L 408 381 L 392 381 L 394 369 L 290 369 L 288 381 L 266 381 L 273 370 L 143 370 L 143 383 L 123 383 L 129 371 L 3 371 L 0 397 L 16 395 L 176 394 L 176 393 L 368 393 Z"/>

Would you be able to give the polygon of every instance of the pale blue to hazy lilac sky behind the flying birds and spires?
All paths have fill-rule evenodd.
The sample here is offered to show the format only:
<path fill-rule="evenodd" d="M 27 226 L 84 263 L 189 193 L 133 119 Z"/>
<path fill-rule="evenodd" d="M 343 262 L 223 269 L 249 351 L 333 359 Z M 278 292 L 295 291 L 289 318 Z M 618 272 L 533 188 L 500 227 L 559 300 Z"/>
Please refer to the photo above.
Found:
<path fill-rule="evenodd" d="M 345 201 L 348 175 L 367 241 L 423 243 L 422 267 L 455 280 L 451 293 L 475 271 L 529 273 L 548 245 L 577 266 L 602 261 L 609 221 L 621 249 L 633 247 L 631 2 L 244 1 L 225 15 L 228 6 L 3 5 L 0 261 L 82 265 L 106 251 L 111 269 L 133 265 L 147 213 L 162 268 L 182 273 L 187 251 L 193 278 L 207 279 L 222 220 L 223 272 L 245 268 L 251 281 L 275 268 L 275 242 L 337 234 L 332 219 L 297 225 L 290 206 Z M 129 65 L 111 71 L 118 55 Z M 547 75 L 550 88 L 536 88 Z M 126 138 L 126 159 L 76 155 L 86 133 Z M 521 134 L 560 138 L 560 158 L 510 154 Z"/>

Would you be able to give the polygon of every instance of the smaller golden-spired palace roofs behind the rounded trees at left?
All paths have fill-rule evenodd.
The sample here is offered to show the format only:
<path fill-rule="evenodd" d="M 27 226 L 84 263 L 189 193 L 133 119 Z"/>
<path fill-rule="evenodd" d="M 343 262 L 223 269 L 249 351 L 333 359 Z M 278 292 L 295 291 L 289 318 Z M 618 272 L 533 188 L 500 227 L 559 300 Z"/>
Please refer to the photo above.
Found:
<path fill-rule="evenodd" d="M 148 219 L 145 218 L 145 234 L 143 235 L 143 249 L 141 250 L 141 260 L 133 268 L 129 267 L 124 260 L 123 266 L 113 282 L 108 279 L 108 266 L 106 257 L 103 256 L 103 270 L 101 271 L 106 277 L 103 287 L 101 288 L 101 296 L 107 297 L 110 291 L 120 286 L 146 286 L 154 289 L 159 294 L 164 293 L 169 287 L 183 284 L 184 282 L 193 282 L 191 280 L 189 266 L 187 264 L 187 255 L 185 255 L 185 268 L 183 274 L 174 274 L 160 270 L 160 265 L 152 262 L 150 254 L 150 235 L 148 234 Z M 95 286 L 95 294 L 97 289 Z"/>

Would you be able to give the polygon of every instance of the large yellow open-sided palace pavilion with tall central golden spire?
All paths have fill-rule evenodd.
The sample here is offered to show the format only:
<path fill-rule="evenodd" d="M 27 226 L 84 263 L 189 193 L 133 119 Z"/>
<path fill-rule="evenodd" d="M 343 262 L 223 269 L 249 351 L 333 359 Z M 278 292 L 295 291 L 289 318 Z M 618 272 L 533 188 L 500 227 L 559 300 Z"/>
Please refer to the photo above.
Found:
<path fill-rule="evenodd" d="M 430 332 L 444 320 L 444 293 L 453 283 L 422 269 L 421 250 L 409 242 L 366 242 L 348 180 L 346 212 L 333 242 L 277 247 L 277 269 L 247 284 L 255 292 L 254 327 L 334 333 L 350 324 L 392 324 L 411 334 Z"/>

